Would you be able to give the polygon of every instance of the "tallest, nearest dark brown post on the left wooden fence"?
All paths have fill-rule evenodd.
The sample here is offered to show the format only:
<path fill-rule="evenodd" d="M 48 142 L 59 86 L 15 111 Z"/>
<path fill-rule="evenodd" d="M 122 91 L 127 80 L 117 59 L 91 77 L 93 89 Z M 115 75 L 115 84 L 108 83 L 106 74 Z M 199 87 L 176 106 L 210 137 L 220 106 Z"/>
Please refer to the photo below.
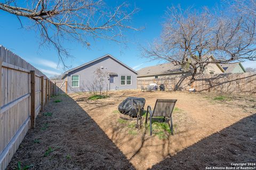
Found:
<path fill-rule="evenodd" d="M 30 71 L 30 126 L 35 128 L 35 71 Z"/>

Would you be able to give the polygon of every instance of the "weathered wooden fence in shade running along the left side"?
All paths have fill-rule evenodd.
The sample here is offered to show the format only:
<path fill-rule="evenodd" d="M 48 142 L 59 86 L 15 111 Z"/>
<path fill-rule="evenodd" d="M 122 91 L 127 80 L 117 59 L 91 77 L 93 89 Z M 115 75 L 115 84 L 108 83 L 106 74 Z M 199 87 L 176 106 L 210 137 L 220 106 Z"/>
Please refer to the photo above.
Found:
<path fill-rule="evenodd" d="M 34 66 L 0 46 L 0 169 L 5 169 L 50 99 L 54 84 Z"/>

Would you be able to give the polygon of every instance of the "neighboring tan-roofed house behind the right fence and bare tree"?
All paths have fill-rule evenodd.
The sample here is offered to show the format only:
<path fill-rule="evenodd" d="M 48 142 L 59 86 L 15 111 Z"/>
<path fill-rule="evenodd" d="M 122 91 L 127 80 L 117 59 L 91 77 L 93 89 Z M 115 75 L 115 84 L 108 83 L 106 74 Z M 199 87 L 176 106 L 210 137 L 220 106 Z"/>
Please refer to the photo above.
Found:
<path fill-rule="evenodd" d="M 210 56 L 211 57 L 211 56 Z M 220 64 L 209 64 L 205 69 L 205 74 L 220 74 L 225 71 Z M 167 78 L 172 75 L 186 74 L 188 71 L 182 69 L 180 65 L 174 65 L 173 63 L 164 63 L 154 66 L 145 67 L 138 71 L 139 79 L 159 79 Z"/>

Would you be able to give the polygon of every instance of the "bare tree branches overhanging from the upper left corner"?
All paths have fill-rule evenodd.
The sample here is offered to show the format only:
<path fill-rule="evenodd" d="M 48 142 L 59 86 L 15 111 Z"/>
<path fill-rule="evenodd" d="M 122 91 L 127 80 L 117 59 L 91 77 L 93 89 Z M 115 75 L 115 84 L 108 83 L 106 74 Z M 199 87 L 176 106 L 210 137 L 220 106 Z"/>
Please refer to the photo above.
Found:
<path fill-rule="evenodd" d="M 6 0 L 0 2 L 0 10 L 16 15 L 20 23 L 20 17 L 32 21 L 29 28 L 39 31 L 42 44 L 57 49 L 63 64 L 69 56 L 63 40 L 90 46 L 90 39 L 122 41 L 124 29 L 138 30 L 129 25 L 137 8 L 130 10 L 126 3 L 110 9 L 102 0 Z"/>

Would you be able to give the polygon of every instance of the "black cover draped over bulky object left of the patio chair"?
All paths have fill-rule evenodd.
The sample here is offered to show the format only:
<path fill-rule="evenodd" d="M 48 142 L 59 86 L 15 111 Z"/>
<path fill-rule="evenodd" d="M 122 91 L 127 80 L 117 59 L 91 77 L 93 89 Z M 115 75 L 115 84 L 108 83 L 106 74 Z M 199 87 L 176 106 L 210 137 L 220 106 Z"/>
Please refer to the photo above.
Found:
<path fill-rule="evenodd" d="M 140 97 L 128 97 L 121 104 L 118 105 L 118 111 L 124 115 L 129 115 L 132 117 L 137 116 L 135 105 L 141 105 L 141 113 L 143 112 L 143 107 L 145 106 L 145 98 Z"/>

